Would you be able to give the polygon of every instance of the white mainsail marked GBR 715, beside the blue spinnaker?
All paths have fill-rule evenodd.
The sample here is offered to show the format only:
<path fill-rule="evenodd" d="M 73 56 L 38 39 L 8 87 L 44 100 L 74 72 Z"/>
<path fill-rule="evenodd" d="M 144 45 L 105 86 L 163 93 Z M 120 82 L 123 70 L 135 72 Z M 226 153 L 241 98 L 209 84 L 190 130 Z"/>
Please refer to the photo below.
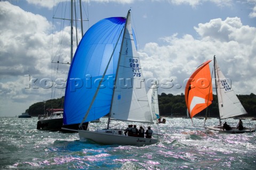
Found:
<path fill-rule="evenodd" d="M 153 123 L 144 80 L 132 35 L 129 13 L 118 62 L 116 88 L 111 104 L 110 118 Z"/>

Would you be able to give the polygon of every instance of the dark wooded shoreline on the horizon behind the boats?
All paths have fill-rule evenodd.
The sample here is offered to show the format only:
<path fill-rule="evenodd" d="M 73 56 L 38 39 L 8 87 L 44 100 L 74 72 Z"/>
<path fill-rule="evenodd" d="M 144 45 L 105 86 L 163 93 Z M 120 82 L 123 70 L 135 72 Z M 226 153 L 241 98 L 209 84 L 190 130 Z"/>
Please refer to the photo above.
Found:
<path fill-rule="evenodd" d="M 238 99 L 241 101 L 247 115 L 243 117 L 256 117 L 256 95 L 251 93 L 249 95 L 237 95 Z M 37 102 L 32 104 L 26 112 L 31 116 L 43 115 L 45 109 L 59 109 L 63 108 L 64 96 L 59 99 L 51 99 L 45 102 Z M 160 116 L 167 117 L 186 117 L 187 116 L 187 106 L 185 102 L 185 95 L 181 93 L 180 95 L 173 94 L 158 94 L 158 104 L 159 104 L 159 114 Z M 201 111 L 196 116 L 205 117 L 206 109 Z M 213 102 L 207 108 L 207 117 L 219 117 L 219 109 L 217 103 L 217 95 L 213 95 Z"/>

